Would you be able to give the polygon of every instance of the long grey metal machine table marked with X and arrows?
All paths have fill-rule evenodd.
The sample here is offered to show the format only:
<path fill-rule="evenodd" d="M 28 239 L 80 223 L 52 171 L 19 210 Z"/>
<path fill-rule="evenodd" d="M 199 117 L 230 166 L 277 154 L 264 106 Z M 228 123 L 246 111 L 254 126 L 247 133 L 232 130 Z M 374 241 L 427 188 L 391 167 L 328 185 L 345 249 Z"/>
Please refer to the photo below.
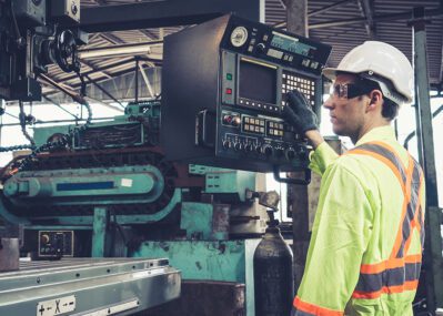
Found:
<path fill-rule="evenodd" d="M 0 273 L 0 315 L 131 315 L 180 296 L 168 259 L 21 262 Z"/>

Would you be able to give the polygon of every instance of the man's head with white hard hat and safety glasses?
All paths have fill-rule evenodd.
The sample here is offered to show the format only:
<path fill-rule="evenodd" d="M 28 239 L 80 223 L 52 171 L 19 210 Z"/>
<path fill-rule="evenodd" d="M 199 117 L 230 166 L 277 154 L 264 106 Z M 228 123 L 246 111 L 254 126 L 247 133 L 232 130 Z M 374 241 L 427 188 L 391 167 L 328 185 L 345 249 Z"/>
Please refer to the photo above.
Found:
<path fill-rule="evenodd" d="M 351 50 L 335 69 L 323 74 L 333 81 L 324 106 L 333 130 L 354 141 L 365 129 L 389 124 L 403 103 L 412 101 L 413 71 L 396 48 L 366 41 Z"/>

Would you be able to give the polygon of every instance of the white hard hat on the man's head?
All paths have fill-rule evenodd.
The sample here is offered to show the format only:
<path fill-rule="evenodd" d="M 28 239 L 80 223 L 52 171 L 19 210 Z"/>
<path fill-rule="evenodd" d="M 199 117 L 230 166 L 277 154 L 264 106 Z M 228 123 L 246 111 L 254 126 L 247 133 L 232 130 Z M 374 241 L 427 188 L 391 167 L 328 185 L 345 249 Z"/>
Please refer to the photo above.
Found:
<path fill-rule="evenodd" d="M 397 104 L 412 102 L 414 72 L 407 58 L 393 45 L 366 41 L 351 50 L 338 68 L 323 69 L 323 74 L 334 80 L 340 71 L 376 81 L 384 96 Z"/>

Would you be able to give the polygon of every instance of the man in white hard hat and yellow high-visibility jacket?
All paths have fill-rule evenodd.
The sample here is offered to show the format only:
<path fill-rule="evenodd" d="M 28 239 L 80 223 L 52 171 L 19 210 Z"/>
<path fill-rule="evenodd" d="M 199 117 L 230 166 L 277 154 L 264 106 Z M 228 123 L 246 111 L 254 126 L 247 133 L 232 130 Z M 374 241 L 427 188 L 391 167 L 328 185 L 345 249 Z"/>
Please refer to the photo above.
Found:
<path fill-rule="evenodd" d="M 324 108 L 334 133 L 355 149 L 338 156 L 300 92 L 288 95 L 286 121 L 314 147 L 322 175 L 302 283 L 293 315 L 412 315 L 424 242 L 424 181 L 390 126 L 412 100 L 413 71 L 394 47 L 368 41 L 336 69 Z"/>

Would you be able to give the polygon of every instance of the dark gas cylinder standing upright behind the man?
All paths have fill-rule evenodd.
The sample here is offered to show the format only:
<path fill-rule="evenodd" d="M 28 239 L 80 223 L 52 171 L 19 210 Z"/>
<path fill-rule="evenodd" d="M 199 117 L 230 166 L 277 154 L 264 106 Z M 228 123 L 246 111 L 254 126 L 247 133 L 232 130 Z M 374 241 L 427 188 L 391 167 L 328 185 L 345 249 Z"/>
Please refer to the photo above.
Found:
<path fill-rule="evenodd" d="M 293 255 L 271 214 L 254 252 L 255 316 L 289 316 L 294 298 Z"/>

